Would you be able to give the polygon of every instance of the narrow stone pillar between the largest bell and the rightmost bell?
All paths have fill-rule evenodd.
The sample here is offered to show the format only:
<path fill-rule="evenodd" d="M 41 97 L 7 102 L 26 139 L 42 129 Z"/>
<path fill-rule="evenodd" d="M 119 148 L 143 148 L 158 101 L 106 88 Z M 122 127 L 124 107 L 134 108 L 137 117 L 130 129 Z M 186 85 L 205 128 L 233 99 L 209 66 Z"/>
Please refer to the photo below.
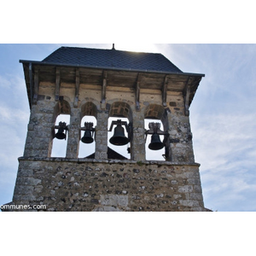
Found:
<path fill-rule="evenodd" d="M 143 161 L 146 159 L 143 111 L 133 114 L 132 126 L 131 160 Z"/>

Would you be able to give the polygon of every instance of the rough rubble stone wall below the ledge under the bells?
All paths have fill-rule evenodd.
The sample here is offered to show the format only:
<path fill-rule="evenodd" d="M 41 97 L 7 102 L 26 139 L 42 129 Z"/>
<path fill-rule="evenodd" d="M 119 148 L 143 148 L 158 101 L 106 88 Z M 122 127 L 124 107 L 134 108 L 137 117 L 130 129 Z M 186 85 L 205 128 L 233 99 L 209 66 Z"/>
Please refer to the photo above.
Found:
<path fill-rule="evenodd" d="M 199 165 L 20 158 L 14 204 L 45 211 L 205 211 Z"/>

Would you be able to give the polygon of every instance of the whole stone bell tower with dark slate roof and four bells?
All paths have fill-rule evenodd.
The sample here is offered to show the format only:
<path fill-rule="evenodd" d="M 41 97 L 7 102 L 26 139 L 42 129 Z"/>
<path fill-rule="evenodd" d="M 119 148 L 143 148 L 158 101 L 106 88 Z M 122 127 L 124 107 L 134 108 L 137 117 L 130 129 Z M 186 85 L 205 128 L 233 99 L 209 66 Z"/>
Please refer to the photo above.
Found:
<path fill-rule="evenodd" d="M 20 62 L 31 116 L 13 204 L 44 205 L 44 211 L 206 211 L 189 125 L 203 74 L 183 73 L 160 54 L 114 48 L 61 47 L 43 61 Z M 56 123 L 64 114 L 69 124 Z M 81 122 L 84 117 L 96 123 Z M 52 156 L 56 141 L 66 143 L 63 157 Z M 82 144 L 95 151 L 79 157 Z M 126 155 L 114 147 L 126 147 Z"/>

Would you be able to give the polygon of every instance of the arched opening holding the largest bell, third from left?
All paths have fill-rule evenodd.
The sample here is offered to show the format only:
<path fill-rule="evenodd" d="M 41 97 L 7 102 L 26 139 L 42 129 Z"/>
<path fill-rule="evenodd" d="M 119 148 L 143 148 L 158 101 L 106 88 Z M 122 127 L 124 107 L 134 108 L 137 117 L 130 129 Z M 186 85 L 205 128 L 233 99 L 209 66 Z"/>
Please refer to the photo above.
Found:
<path fill-rule="evenodd" d="M 131 108 L 114 102 L 108 118 L 108 159 L 131 159 Z"/>

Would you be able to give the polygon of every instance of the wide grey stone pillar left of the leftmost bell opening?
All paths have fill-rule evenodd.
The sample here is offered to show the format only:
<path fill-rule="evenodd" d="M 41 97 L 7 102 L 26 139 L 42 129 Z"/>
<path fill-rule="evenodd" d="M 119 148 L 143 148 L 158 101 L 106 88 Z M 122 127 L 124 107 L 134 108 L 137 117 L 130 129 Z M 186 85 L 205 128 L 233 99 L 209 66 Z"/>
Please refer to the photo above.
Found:
<path fill-rule="evenodd" d="M 27 127 L 25 157 L 49 157 L 52 147 L 55 102 L 38 101 L 32 105 Z"/>

